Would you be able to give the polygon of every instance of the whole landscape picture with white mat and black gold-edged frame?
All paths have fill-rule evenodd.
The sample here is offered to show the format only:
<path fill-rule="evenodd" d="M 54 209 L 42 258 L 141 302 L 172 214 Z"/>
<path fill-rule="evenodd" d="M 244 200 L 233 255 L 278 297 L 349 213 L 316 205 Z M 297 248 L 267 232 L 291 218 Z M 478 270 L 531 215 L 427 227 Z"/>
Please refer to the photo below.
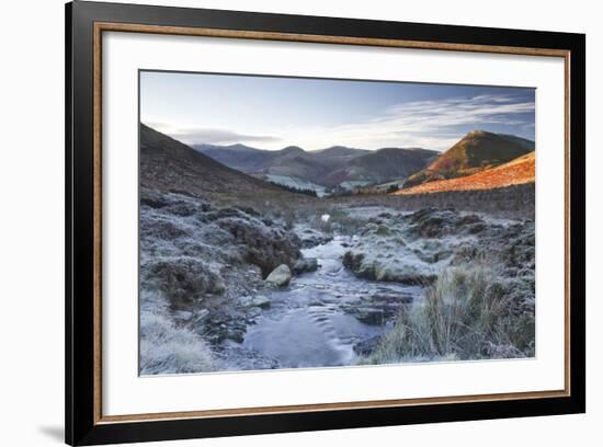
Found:
<path fill-rule="evenodd" d="M 584 35 L 66 30 L 68 444 L 584 412 Z"/>

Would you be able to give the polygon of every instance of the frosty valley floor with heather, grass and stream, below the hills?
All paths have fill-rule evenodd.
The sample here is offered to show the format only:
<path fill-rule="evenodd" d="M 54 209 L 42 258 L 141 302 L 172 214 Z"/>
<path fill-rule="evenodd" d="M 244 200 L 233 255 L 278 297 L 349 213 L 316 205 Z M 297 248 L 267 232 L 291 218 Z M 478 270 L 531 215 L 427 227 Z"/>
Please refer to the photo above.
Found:
<path fill-rule="evenodd" d="M 533 219 L 399 203 L 143 192 L 141 374 L 534 356 Z"/>

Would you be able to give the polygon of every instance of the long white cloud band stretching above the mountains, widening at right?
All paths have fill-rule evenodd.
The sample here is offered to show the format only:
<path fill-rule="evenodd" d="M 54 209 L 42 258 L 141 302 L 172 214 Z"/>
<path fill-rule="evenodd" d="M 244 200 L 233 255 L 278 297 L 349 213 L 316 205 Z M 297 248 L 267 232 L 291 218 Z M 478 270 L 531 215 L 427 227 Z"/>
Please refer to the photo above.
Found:
<path fill-rule="evenodd" d="M 497 126 L 516 128 L 517 134 L 526 130 L 526 126 L 534 125 L 534 111 L 533 100 L 511 94 L 482 94 L 396 104 L 371 119 L 331 127 L 292 123 L 278 128 L 266 127 L 255 134 L 179 128 L 164 123 L 149 123 L 149 126 L 189 145 L 255 142 L 262 149 L 281 149 L 291 145 L 322 149 L 342 145 L 365 149 L 421 147 L 446 150 L 468 130 L 488 130 Z M 532 117 L 526 117 L 528 114 Z"/>

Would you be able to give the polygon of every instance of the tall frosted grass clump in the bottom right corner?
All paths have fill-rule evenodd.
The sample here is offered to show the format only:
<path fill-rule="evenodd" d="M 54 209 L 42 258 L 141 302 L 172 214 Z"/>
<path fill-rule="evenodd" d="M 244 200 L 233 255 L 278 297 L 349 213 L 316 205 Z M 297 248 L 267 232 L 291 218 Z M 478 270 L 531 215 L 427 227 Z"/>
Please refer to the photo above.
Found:
<path fill-rule="evenodd" d="M 405 310 L 377 348 L 360 362 L 517 358 L 534 355 L 534 309 L 514 302 L 494 266 L 447 267 L 424 302 Z"/>

